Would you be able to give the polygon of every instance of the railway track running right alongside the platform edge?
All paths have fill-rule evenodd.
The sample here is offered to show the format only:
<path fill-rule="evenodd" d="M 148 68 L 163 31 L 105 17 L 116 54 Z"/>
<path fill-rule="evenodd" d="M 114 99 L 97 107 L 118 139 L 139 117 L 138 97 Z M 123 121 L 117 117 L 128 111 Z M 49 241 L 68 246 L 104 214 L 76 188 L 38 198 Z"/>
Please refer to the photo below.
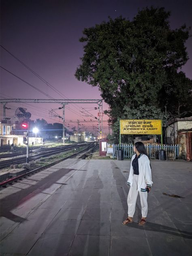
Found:
<path fill-rule="evenodd" d="M 98 147 L 97 143 L 89 143 L 89 145 L 87 145 L 86 148 L 82 149 L 81 151 L 78 151 L 77 153 L 74 153 L 70 156 L 66 156 L 65 158 L 60 159 L 56 162 L 52 162 L 51 164 L 47 164 L 46 166 L 39 167 L 37 169 L 34 169 L 32 171 L 28 171 L 28 172 L 26 172 L 22 175 L 17 176 L 17 177 L 13 177 L 13 178 L 7 179 L 6 181 L 1 182 L 0 183 L 0 188 L 6 187 L 7 185 L 12 185 L 12 184 L 14 184 L 14 182 L 17 182 L 17 180 L 21 180 L 23 178 L 26 178 L 26 177 L 34 174 L 34 173 L 42 171 L 43 169 L 47 169 L 50 166 L 53 166 L 54 164 L 57 164 L 57 163 L 62 162 L 64 160 L 68 159 L 68 158 L 73 158 L 73 157 L 77 156 L 78 154 L 86 152 L 84 155 L 81 155 L 81 157 L 80 157 L 80 158 L 83 158 L 87 154 L 87 151 L 93 151 L 96 147 Z"/>

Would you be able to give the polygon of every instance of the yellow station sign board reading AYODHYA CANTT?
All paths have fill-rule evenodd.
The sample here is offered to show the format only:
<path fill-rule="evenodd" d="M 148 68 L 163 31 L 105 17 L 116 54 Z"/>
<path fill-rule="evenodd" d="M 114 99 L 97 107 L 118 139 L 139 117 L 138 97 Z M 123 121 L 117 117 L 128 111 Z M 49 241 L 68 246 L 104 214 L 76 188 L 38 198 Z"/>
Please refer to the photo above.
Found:
<path fill-rule="evenodd" d="M 120 134 L 161 134 L 161 120 L 120 120 Z"/>

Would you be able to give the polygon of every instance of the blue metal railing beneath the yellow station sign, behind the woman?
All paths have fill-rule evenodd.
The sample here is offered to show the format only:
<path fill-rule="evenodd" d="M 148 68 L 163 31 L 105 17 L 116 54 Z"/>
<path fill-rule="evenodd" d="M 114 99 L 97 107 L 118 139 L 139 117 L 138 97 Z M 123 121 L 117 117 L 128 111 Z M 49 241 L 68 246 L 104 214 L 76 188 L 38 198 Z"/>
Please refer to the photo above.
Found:
<path fill-rule="evenodd" d="M 121 149 L 124 152 L 124 158 L 130 159 L 134 154 L 133 144 L 121 144 Z M 113 144 L 113 158 L 116 158 L 116 151 L 119 149 L 119 144 Z M 161 145 L 148 144 L 145 145 L 149 159 L 157 159 L 158 151 L 161 149 Z M 177 145 L 163 145 L 163 149 L 166 151 L 166 158 L 178 158 L 179 157 L 179 144 Z"/>

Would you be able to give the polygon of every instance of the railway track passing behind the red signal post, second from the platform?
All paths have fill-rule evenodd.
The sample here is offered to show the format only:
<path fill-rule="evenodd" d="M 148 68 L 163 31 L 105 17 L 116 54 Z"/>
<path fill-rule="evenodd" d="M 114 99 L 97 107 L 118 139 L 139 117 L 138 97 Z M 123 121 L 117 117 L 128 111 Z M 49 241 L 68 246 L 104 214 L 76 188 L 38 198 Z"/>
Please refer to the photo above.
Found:
<path fill-rule="evenodd" d="M 29 160 L 36 160 L 39 159 L 41 157 L 46 157 L 46 156 L 51 156 L 54 154 L 58 154 L 58 153 L 62 153 L 74 148 L 78 148 L 78 147 L 82 147 L 85 145 L 89 145 L 90 143 L 82 143 L 82 144 L 72 144 L 72 145 L 66 145 L 66 146 L 59 146 L 59 147 L 54 147 L 54 148 L 46 148 L 46 149 L 41 149 L 41 150 L 36 150 L 33 153 L 35 153 L 35 155 L 32 155 L 29 157 Z M 91 143 L 92 144 L 92 143 Z M 23 155 L 23 153 L 20 153 L 19 155 Z M 9 156 L 10 157 L 10 156 Z M 11 156 L 11 159 L 8 160 L 2 160 L 0 161 L 0 169 L 5 168 L 7 166 L 10 166 L 11 164 L 22 164 L 26 162 L 26 156 L 21 156 L 18 158 L 14 158 L 14 155 Z"/>

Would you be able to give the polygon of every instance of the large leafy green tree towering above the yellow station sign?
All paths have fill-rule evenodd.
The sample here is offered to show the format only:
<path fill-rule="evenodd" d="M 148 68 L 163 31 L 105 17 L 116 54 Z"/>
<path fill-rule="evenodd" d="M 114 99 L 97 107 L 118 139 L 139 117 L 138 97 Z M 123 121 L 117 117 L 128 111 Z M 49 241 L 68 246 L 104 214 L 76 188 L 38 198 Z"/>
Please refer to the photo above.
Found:
<path fill-rule="evenodd" d="M 109 17 L 108 22 L 84 29 L 79 40 L 84 55 L 75 77 L 99 87 L 113 124 L 124 116 L 125 107 L 164 111 L 166 106 L 171 116 L 190 114 L 186 102 L 191 100 L 192 84 L 178 73 L 188 60 L 189 29 L 183 25 L 171 30 L 169 16 L 164 8 L 151 7 L 132 21 Z"/>

